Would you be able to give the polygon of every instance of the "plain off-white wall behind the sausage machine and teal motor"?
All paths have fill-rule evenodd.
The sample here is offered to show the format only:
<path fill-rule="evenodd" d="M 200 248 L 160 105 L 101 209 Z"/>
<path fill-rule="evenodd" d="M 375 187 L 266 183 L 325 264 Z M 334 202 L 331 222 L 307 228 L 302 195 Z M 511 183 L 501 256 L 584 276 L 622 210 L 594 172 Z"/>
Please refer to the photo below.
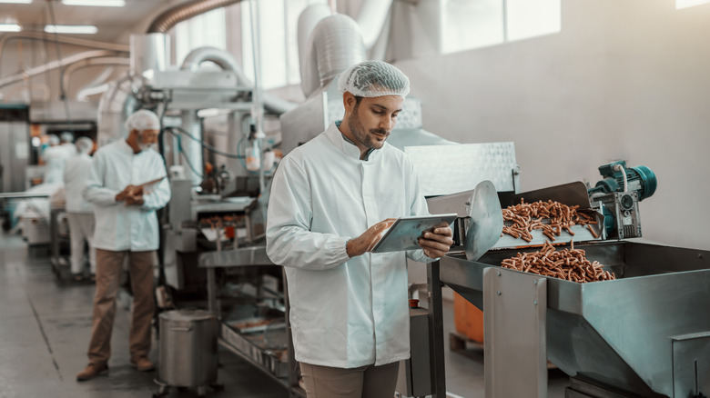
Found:
<path fill-rule="evenodd" d="M 416 29 L 417 26 L 411 26 Z M 562 32 L 394 62 L 424 128 L 461 143 L 513 141 L 522 191 L 646 165 L 644 238 L 710 249 L 710 4 L 563 0 Z"/>

